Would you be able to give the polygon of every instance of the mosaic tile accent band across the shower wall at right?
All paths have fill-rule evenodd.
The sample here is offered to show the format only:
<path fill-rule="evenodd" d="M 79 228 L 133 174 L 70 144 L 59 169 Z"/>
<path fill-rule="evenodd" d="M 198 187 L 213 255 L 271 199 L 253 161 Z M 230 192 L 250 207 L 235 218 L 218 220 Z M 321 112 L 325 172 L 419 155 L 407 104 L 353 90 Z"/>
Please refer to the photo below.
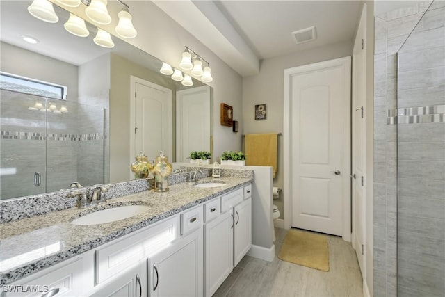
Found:
<path fill-rule="evenodd" d="M 445 122 L 445 105 L 387 110 L 387 125 L 430 122 Z"/>

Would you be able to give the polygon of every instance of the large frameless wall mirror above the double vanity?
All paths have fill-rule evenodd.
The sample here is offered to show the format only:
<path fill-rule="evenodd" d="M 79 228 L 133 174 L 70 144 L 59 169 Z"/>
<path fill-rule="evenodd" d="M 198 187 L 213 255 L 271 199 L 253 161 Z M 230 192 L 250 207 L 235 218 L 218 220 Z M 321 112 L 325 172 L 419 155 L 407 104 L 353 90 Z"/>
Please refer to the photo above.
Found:
<path fill-rule="evenodd" d="M 172 162 L 187 161 L 193 150 L 211 152 L 209 86 L 173 81 L 159 72 L 162 61 L 115 36 L 113 48 L 95 45 L 92 24 L 88 37 L 72 35 L 63 26 L 70 13 L 56 5 L 58 22 L 42 22 L 28 13 L 31 2 L 0 1 L 1 200 L 72 182 L 124 182 L 140 151 L 152 160 L 162 150 Z M 36 93 L 16 77 L 65 93 Z"/>

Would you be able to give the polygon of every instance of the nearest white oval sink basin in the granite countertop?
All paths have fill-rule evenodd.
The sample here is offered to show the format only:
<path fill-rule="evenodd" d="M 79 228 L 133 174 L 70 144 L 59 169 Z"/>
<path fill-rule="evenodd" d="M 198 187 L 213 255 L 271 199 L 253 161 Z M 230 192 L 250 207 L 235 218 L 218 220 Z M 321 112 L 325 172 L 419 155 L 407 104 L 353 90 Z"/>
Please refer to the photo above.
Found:
<path fill-rule="evenodd" d="M 124 220 L 131 218 L 147 211 L 150 207 L 147 205 L 125 205 L 122 207 L 113 207 L 92 212 L 80 218 L 76 218 L 71 223 L 74 225 L 96 225 L 115 222 L 116 220 Z"/>

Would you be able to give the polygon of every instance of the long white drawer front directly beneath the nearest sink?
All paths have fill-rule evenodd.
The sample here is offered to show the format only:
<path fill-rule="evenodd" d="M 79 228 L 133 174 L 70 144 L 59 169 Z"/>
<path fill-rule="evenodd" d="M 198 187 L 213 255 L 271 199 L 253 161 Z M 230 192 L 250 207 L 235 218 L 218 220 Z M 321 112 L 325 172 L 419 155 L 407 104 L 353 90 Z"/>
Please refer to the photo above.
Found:
<path fill-rule="evenodd" d="M 179 238 L 179 215 L 171 216 L 145 230 L 112 241 L 96 250 L 96 283 L 100 284 L 117 275 L 125 268 L 137 264 L 140 259 L 154 255 L 168 243 Z"/>

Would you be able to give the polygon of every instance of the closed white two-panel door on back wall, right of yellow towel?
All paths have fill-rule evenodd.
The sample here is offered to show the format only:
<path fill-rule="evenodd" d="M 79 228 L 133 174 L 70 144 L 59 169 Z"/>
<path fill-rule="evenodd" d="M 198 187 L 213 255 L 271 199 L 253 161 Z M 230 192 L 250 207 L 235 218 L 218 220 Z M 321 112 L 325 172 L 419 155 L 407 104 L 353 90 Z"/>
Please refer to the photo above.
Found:
<path fill-rule="evenodd" d="M 350 57 L 287 71 L 291 225 L 343 236 L 350 229 Z"/>

